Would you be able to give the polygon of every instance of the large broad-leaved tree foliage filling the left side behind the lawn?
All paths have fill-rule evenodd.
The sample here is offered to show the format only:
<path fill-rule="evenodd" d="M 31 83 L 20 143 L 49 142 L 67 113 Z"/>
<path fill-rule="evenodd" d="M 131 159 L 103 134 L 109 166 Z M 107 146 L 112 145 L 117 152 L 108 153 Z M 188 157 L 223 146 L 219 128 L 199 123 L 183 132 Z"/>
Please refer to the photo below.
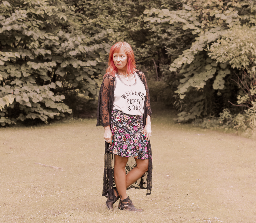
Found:
<path fill-rule="evenodd" d="M 3 1 L 0 11 L 1 95 L 13 93 L 15 98 L 1 113 L 6 123 L 47 122 L 71 113 L 63 103 L 69 91 L 95 97 L 94 73 L 102 72 L 95 52 L 109 45 L 88 47 L 90 38 L 79 30 L 82 23 L 72 6 L 60 1 Z"/>

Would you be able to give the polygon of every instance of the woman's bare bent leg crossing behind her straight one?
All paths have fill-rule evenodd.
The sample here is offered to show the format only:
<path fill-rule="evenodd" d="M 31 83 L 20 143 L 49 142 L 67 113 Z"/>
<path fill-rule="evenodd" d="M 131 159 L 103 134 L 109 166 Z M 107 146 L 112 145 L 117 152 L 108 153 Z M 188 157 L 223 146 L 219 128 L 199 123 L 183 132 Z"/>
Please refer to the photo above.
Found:
<path fill-rule="evenodd" d="M 126 188 L 136 182 L 148 169 L 148 159 L 136 159 L 137 166 L 126 175 Z M 114 171 L 115 174 L 115 171 Z M 119 190 L 117 189 L 118 193 Z"/>

